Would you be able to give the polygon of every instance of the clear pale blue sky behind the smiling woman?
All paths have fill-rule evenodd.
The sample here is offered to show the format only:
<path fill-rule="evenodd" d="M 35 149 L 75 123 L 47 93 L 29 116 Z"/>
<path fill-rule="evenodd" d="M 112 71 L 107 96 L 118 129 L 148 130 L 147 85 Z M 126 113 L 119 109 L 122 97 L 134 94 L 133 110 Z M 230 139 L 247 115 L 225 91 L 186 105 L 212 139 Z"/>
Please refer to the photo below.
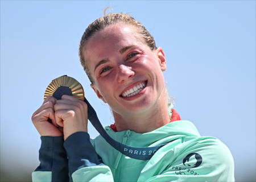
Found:
<path fill-rule="evenodd" d="M 255 180 L 255 1 L 0 2 L 1 171 L 19 176 L 38 166 L 31 115 L 56 77 L 80 81 L 102 125 L 113 123 L 78 56 L 85 28 L 111 6 L 143 23 L 164 49 L 181 118 L 229 147 L 237 181 Z M 98 135 L 91 125 L 89 134 Z"/>

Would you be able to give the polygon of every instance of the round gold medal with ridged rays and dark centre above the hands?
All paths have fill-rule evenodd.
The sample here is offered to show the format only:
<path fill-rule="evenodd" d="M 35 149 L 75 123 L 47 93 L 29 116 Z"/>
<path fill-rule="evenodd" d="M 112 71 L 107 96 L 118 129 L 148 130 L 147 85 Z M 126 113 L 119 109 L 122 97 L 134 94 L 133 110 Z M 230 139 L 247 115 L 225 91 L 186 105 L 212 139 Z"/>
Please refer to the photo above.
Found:
<path fill-rule="evenodd" d="M 57 100 L 60 100 L 63 95 L 73 96 L 84 101 L 84 89 L 82 85 L 75 78 L 67 75 L 52 80 L 47 86 L 46 92 L 44 92 L 44 99 L 47 96 L 53 96 Z"/>

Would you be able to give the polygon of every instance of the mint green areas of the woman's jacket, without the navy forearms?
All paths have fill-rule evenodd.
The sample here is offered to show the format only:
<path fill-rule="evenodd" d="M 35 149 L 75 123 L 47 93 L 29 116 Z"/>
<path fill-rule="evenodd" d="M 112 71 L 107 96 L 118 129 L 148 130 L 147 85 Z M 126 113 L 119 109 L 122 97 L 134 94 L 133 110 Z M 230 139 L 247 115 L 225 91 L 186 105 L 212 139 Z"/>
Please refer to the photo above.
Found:
<path fill-rule="evenodd" d="M 105 130 L 118 142 L 134 147 L 175 140 L 144 161 L 124 156 L 101 136 L 90 139 L 105 165 L 81 167 L 72 172 L 73 181 L 234 181 L 234 162 L 228 147 L 214 137 L 201 137 L 189 121 L 171 122 L 144 134 L 114 132 L 110 127 Z M 35 171 L 32 180 L 51 181 L 51 175 L 51 171 Z"/>

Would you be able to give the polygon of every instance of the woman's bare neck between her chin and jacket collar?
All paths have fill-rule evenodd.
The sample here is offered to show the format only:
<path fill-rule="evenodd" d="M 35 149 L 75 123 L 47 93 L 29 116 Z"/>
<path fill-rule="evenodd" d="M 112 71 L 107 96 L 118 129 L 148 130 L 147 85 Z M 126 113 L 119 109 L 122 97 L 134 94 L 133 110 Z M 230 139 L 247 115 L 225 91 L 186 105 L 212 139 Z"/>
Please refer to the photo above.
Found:
<path fill-rule="evenodd" d="M 139 114 L 121 115 L 113 111 L 117 131 L 131 130 L 136 133 L 148 133 L 170 122 L 168 104 L 159 101 L 147 111 Z"/>

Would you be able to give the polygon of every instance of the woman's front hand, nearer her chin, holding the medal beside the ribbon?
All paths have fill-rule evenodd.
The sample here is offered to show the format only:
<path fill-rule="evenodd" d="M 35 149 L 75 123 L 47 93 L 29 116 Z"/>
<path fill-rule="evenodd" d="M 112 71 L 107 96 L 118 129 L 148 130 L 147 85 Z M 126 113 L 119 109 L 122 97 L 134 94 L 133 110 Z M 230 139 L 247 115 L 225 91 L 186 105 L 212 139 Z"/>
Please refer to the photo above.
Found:
<path fill-rule="evenodd" d="M 56 124 L 63 127 L 64 140 L 79 131 L 88 132 L 88 111 L 84 101 L 63 95 L 54 105 Z"/>

